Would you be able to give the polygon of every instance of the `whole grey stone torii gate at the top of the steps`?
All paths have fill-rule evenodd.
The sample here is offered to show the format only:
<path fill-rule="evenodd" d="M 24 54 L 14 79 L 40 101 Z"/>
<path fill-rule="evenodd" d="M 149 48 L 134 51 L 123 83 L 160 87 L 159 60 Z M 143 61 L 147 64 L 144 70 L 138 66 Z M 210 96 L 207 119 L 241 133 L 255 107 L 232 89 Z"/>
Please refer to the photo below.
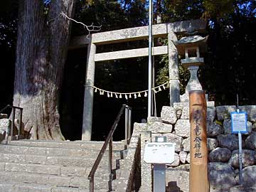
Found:
<path fill-rule="evenodd" d="M 180 84 L 178 75 L 178 53 L 174 43 L 176 35 L 191 33 L 193 31 L 204 32 L 206 22 L 201 20 L 179 21 L 174 23 L 161 23 L 154 25 L 152 33 L 154 38 L 168 37 L 168 46 L 153 48 L 153 55 L 169 55 L 169 85 L 170 105 L 180 101 Z M 94 33 L 87 36 L 78 36 L 70 42 L 70 48 L 87 48 L 87 70 L 85 75 L 85 97 L 82 116 L 82 140 L 90 141 L 92 134 L 92 108 L 93 108 L 93 85 L 95 82 L 95 62 L 103 60 L 117 60 L 124 58 L 137 58 L 149 55 L 149 48 L 137 48 L 119 50 L 107 53 L 96 53 L 96 47 L 111 43 L 138 41 L 149 36 L 149 26 L 125 28 L 116 31 Z"/>

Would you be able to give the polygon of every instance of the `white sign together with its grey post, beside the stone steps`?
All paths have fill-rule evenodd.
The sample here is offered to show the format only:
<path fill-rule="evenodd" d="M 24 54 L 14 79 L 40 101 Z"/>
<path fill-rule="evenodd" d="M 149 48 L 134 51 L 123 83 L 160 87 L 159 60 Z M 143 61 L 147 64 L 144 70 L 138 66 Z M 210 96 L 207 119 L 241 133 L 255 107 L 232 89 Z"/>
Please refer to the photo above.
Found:
<path fill-rule="evenodd" d="M 156 137 L 156 142 L 146 144 L 144 161 L 153 164 L 154 192 L 166 191 L 166 164 L 174 161 L 175 144 L 166 142 L 166 137 Z"/>

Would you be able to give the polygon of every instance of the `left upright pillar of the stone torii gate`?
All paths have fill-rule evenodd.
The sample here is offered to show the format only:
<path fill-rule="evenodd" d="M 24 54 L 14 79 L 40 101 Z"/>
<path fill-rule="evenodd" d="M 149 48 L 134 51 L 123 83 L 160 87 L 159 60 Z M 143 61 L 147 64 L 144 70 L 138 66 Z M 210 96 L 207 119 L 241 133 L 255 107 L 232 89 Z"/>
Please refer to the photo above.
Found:
<path fill-rule="evenodd" d="M 85 76 L 85 97 L 82 115 L 82 140 L 90 141 L 92 136 L 93 86 L 95 80 L 96 46 L 90 43 L 87 48 L 87 70 Z"/>

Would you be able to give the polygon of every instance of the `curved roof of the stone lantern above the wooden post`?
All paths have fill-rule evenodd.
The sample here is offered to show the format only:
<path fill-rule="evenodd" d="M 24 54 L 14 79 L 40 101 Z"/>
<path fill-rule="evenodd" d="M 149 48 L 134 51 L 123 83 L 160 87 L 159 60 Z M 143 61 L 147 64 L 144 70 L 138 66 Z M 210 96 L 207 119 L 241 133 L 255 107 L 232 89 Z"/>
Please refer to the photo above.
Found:
<path fill-rule="evenodd" d="M 178 41 L 173 41 L 178 50 L 178 55 L 185 54 L 185 48 L 199 47 L 201 53 L 206 52 L 206 41 L 208 36 L 186 36 Z"/>

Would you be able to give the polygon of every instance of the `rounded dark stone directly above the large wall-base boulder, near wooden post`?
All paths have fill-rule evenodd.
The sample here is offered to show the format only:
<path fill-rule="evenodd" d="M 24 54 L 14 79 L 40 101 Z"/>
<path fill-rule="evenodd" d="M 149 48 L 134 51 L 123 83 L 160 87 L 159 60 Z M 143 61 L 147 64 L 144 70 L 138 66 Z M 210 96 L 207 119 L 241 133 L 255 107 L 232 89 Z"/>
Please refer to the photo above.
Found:
<path fill-rule="evenodd" d="M 211 162 L 226 162 L 230 159 L 230 156 L 231 151 L 229 149 L 218 147 L 210 151 L 208 159 Z"/>

